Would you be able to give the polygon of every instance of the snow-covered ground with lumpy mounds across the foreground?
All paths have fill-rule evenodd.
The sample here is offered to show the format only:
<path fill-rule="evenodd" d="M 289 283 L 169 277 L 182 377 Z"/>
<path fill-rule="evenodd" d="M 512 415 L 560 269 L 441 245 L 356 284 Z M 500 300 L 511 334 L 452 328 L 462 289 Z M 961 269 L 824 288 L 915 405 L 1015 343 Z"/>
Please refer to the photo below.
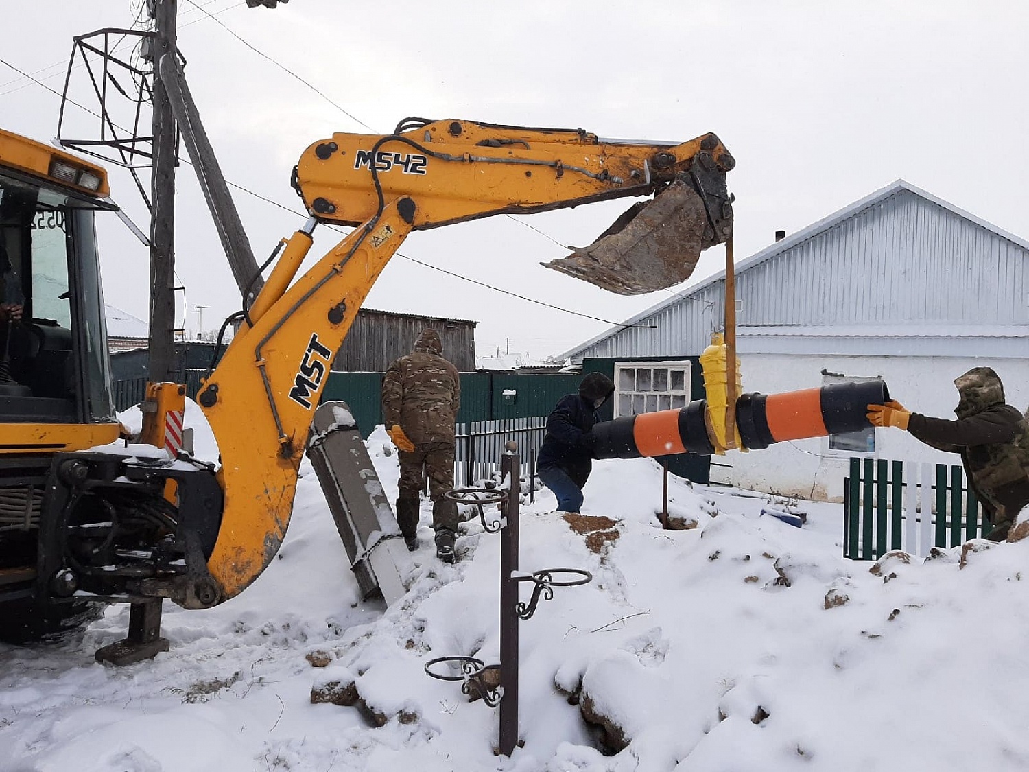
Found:
<path fill-rule="evenodd" d="M 368 446 L 392 498 L 381 428 Z M 198 447 L 212 447 L 202 430 Z M 594 581 L 558 589 L 521 623 L 525 745 L 506 759 L 493 752 L 497 710 L 423 672 L 445 655 L 498 661 L 499 537 L 469 522 L 460 562 L 440 564 L 425 506 L 409 595 L 361 603 L 301 471 L 278 559 L 216 608 L 166 604 L 171 651 L 154 661 L 94 662 L 122 637 L 123 607 L 72 641 L 0 646 L 0 770 L 1029 768 L 1025 542 L 975 542 L 963 568 L 957 548 L 873 573 L 841 557 L 839 505 L 801 502 L 808 523 L 795 528 L 759 514 L 767 497 L 673 478 L 671 512 L 698 527 L 664 530 L 660 467 L 598 462 L 586 514 L 617 534 L 594 536 L 599 552 L 547 491 L 523 506 L 522 568 L 580 567 Z M 308 661 L 318 652 L 327 667 Z M 350 678 L 368 710 L 311 703 L 314 686 Z M 599 749 L 586 702 L 625 749 Z"/>

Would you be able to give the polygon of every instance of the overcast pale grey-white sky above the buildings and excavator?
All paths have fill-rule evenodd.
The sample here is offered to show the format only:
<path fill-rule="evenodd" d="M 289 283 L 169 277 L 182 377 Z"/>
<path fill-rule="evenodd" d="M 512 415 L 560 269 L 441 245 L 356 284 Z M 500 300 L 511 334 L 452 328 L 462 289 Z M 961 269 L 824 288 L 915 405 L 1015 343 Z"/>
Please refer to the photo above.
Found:
<path fill-rule="evenodd" d="M 72 36 L 128 27 L 139 2 L 36 0 L 4 6 L 0 58 L 61 91 Z M 275 10 L 196 0 L 377 134 L 407 115 L 582 128 L 685 141 L 717 134 L 737 160 L 742 259 L 897 178 L 1029 237 L 1029 3 L 1024 0 L 723 0 L 432 4 L 291 0 Z M 16 11 L 15 11 L 16 8 Z M 368 133 L 179 0 L 186 75 L 225 176 L 301 212 L 289 187 L 300 152 L 333 132 Z M 128 50 L 125 51 L 128 55 Z M 96 108 L 84 73 L 72 96 Z M 59 99 L 0 64 L 0 127 L 48 141 Z M 75 132 L 97 121 L 75 107 Z M 68 134 L 69 132 L 66 132 Z M 184 150 L 183 150 L 184 152 Z M 186 324 L 205 328 L 239 293 L 188 167 L 178 190 Z M 114 199 L 141 225 L 131 179 Z M 237 195 L 262 260 L 305 217 Z M 541 268 L 584 245 L 626 200 L 414 233 L 401 252 L 571 311 L 624 320 L 669 296 L 619 297 Z M 147 252 L 113 217 L 101 230 L 108 303 L 147 316 Z M 333 241 L 318 232 L 314 252 Z M 548 237 L 548 238 L 547 238 Z M 557 243 L 555 243 L 557 242 Z M 314 254 L 313 252 L 313 254 Z M 704 253 L 690 282 L 723 266 Z M 688 284 L 688 283 L 687 283 Z M 480 322 L 481 354 L 558 354 L 604 322 L 529 304 L 394 257 L 370 308 Z M 180 301 L 180 309 L 183 304 Z M 181 311 L 180 311 L 181 319 Z"/>

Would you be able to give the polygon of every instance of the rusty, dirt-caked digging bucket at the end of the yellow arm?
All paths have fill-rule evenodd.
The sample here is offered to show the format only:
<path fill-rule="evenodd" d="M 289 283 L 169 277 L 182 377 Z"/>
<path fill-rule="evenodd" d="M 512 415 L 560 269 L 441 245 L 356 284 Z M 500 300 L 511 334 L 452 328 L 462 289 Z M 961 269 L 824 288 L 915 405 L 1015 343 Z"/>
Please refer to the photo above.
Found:
<path fill-rule="evenodd" d="M 680 284 L 701 252 L 732 233 L 731 201 L 718 196 L 706 205 L 689 177 L 679 176 L 650 201 L 634 204 L 590 246 L 541 265 L 617 294 Z"/>

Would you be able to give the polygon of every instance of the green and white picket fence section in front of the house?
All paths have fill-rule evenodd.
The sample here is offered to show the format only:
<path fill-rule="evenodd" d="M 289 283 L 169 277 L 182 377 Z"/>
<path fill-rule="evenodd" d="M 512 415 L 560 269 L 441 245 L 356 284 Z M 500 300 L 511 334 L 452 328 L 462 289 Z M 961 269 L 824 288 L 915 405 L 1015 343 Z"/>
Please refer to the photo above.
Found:
<path fill-rule="evenodd" d="M 926 556 L 990 530 L 964 469 L 851 458 L 844 480 L 843 554 L 878 560 L 890 550 Z"/>

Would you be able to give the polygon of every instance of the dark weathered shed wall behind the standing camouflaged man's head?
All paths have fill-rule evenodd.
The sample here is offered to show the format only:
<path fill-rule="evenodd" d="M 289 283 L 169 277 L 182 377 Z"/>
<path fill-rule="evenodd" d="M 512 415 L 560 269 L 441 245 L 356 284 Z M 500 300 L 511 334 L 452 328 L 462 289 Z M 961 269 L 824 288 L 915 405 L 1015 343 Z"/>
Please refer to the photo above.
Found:
<path fill-rule="evenodd" d="M 432 327 L 443 343 L 443 356 L 462 373 L 475 370 L 475 322 L 361 309 L 340 347 L 332 370 L 380 373 L 398 356 L 410 354 L 418 336 Z"/>

